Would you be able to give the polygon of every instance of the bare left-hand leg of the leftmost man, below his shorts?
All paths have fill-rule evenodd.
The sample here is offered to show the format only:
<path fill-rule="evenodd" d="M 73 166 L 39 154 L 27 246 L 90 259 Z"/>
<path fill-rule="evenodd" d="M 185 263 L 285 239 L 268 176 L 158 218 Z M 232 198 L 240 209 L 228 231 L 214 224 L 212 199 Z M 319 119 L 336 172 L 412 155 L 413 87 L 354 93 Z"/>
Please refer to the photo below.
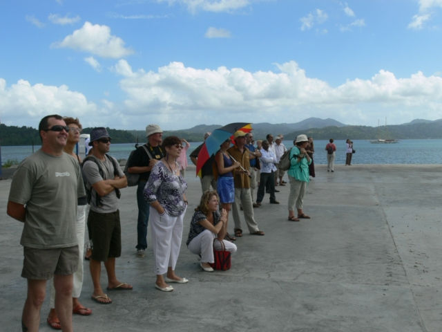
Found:
<path fill-rule="evenodd" d="M 21 315 L 21 329 L 26 332 L 38 332 L 40 308 L 46 294 L 46 280 L 28 279 L 28 296 Z"/>

